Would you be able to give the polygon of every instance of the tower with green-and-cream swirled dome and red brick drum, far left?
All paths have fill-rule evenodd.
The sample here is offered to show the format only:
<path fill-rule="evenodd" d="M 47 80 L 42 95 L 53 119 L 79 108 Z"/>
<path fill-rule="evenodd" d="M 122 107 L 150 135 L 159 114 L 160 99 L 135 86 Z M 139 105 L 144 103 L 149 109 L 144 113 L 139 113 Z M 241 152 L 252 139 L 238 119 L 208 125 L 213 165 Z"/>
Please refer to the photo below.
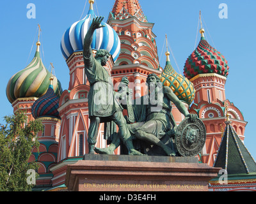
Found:
<path fill-rule="evenodd" d="M 40 31 L 39 31 L 40 33 Z M 38 41 L 36 42 L 36 52 L 32 61 L 18 73 L 10 78 L 6 87 L 6 96 L 13 106 L 13 112 L 17 110 L 26 110 L 28 122 L 33 119 L 31 114 L 31 107 L 33 103 L 44 96 L 50 84 L 49 72 L 40 57 L 40 35 L 38 34 Z M 52 87 L 54 92 L 60 96 L 61 84 L 56 77 L 53 77 Z"/>

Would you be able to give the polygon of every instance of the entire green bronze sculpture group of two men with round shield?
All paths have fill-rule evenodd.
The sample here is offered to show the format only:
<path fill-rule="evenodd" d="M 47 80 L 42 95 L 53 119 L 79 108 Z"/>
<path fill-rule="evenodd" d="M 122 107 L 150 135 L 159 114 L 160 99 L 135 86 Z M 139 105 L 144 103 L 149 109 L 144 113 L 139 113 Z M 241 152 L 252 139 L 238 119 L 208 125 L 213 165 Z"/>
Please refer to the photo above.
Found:
<path fill-rule="evenodd" d="M 148 75 L 148 94 L 132 101 L 134 102 L 132 105 L 131 96 L 127 97 L 129 96 L 129 80 L 127 78 L 123 78 L 121 83 L 126 86 L 126 89 L 119 92 L 114 91 L 111 77 L 104 68 L 110 56 L 109 52 L 98 50 L 93 57 L 91 48 L 94 31 L 104 27 L 104 25 L 100 25 L 102 20 L 103 17 L 94 18 L 84 38 L 84 71 L 90 82 L 88 94 L 89 154 L 95 152 L 113 154 L 121 141 L 127 147 L 128 154 L 131 155 L 142 155 L 142 151 L 143 154 L 148 155 L 195 156 L 198 154 L 205 143 L 204 124 L 197 115 L 189 114 L 186 106 L 177 98 L 170 87 L 163 86 L 157 75 Z M 124 98 L 124 96 L 128 103 L 121 104 L 120 98 Z M 172 103 L 186 117 L 178 127 L 173 119 Z M 127 120 L 122 113 L 124 107 L 129 110 Z M 106 149 L 95 148 L 100 122 L 105 124 L 111 122 L 111 126 L 117 125 L 119 128 L 118 133 L 113 134 L 111 145 Z M 171 139 L 173 137 L 175 138 L 176 149 L 172 145 Z M 135 144 L 143 141 L 141 143 L 143 149 L 140 147 L 136 150 L 132 140 Z M 140 145 L 136 146 L 139 147 Z"/>

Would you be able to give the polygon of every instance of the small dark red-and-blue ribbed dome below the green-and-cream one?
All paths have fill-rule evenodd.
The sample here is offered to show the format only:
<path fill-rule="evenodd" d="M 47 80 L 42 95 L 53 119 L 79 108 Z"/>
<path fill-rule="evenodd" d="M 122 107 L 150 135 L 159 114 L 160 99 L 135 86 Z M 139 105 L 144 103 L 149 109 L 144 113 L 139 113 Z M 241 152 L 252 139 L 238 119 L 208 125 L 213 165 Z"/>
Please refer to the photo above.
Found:
<path fill-rule="evenodd" d="M 54 77 L 51 77 L 50 80 L 51 84 L 47 92 L 33 103 L 31 112 L 35 119 L 39 117 L 56 117 L 60 119 L 58 112 L 60 98 L 56 96 L 53 90 L 52 80 L 54 80 Z"/>

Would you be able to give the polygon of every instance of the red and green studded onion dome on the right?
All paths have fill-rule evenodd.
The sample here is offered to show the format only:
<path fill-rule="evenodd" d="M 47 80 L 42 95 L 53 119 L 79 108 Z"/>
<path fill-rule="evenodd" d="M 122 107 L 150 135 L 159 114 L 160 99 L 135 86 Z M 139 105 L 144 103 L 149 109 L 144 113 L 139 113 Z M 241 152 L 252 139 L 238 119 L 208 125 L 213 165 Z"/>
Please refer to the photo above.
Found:
<path fill-rule="evenodd" d="M 205 40 L 204 29 L 200 29 L 200 33 L 202 35 L 200 43 L 186 61 L 184 76 L 189 80 L 204 73 L 216 73 L 227 77 L 229 69 L 227 60 Z"/>

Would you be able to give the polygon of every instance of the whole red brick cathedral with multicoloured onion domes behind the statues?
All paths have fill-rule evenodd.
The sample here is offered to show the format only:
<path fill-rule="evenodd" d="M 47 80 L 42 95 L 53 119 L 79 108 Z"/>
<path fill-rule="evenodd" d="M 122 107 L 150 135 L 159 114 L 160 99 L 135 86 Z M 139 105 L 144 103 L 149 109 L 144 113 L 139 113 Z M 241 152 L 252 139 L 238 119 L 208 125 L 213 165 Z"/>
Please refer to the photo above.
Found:
<path fill-rule="evenodd" d="M 45 69 L 40 59 L 40 41 L 28 66 L 10 78 L 6 96 L 13 112 L 26 109 L 28 121 L 42 120 L 44 131 L 38 133 L 39 154 L 32 150 L 29 161 L 38 161 L 40 168 L 35 190 L 65 191 L 65 175 L 68 164 L 74 164 L 88 153 L 88 92 L 90 84 L 84 73 L 83 43 L 93 18 L 93 0 L 83 20 L 74 22 L 60 36 L 60 52 L 67 62 L 70 80 L 68 90 Z M 188 59 L 184 59 L 184 75 L 175 71 L 166 50 L 164 68 L 159 63 L 154 24 L 148 22 L 138 0 L 115 0 L 104 27 L 93 35 L 92 50 L 106 49 L 111 54 L 106 70 L 113 79 L 117 91 L 123 77 L 129 79 L 134 99 L 144 96 L 146 80 L 150 73 L 159 76 L 165 86 L 204 122 L 207 138 L 198 154 L 199 163 L 221 167 L 230 177 L 226 186 L 218 180 L 209 181 L 211 191 L 232 191 L 247 187 L 256 191 L 256 163 L 244 146 L 244 130 L 247 124 L 241 111 L 225 96 L 228 62 L 224 55 L 209 45 L 201 27 L 198 47 Z M 166 38 L 167 40 L 167 38 Z M 167 43 L 166 43 L 167 45 Z M 184 119 L 172 105 L 173 117 L 179 125 Z M 127 112 L 124 111 L 124 114 Z M 95 147 L 104 148 L 108 141 L 104 124 L 100 124 Z M 120 147 L 114 154 L 120 154 Z"/>

